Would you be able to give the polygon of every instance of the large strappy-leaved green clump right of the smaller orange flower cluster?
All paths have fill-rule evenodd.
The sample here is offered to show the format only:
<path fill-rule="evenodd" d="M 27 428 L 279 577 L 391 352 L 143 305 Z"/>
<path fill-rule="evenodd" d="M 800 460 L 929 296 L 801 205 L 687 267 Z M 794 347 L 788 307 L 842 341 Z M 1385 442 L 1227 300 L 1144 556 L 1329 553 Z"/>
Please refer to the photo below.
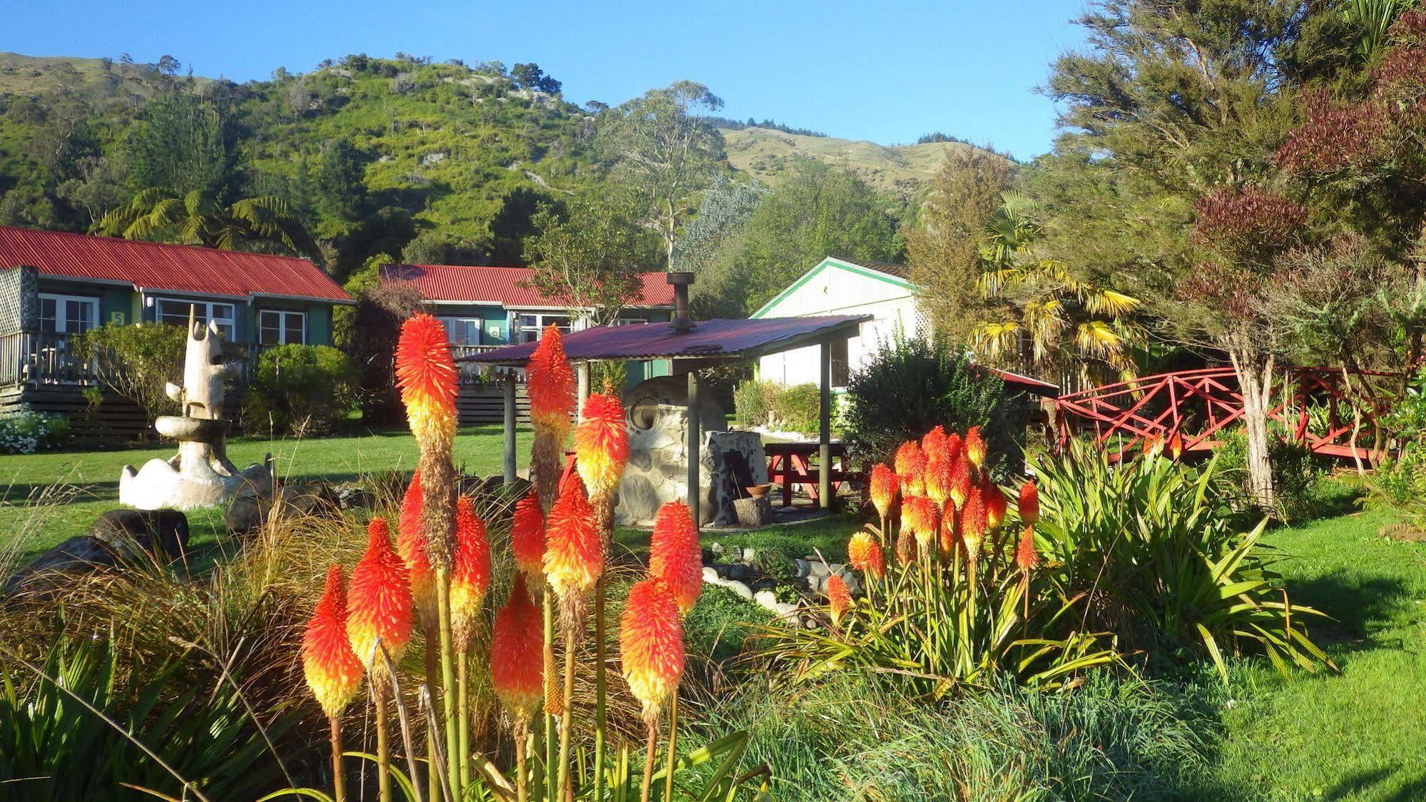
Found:
<path fill-rule="evenodd" d="M 1060 595 L 1094 599 L 1091 629 L 1114 631 L 1128 646 L 1206 655 L 1225 682 L 1224 652 L 1263 652 L 1283 674 L 1288 659 L 1335 668 L 1303 625 L 1322 614 L 1291 604 L 1258 545 L 1266 521 L 1249 532 L 1233 527 L 1233 489 L 1215 461 L 1194 468 L 1154 451 L 1111 464 L 1072 442 L 1032 468 L 1037 545 Z"/>

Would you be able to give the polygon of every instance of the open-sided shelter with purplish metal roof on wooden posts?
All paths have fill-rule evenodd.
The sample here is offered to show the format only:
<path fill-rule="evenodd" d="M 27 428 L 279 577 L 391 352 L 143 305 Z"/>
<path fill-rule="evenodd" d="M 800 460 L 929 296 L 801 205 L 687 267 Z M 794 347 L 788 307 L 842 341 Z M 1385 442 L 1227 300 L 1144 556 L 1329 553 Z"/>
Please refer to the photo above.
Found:
<path fill-rule="evenodd" d="M 683 287 L 679 287 L 680 290 Z M 682 301 L 683 298 L 680 298 Z M 674 372 L 687 375 L 687 450 L 699 452 L 699 371 L 717 364 L 754 360 L 767 354 L 820 345 L 819 498 L 831 498 L 831 345 L 856 335 L 870 315 L 789 317 L 763 320 L 706 320 L 686 317 L 686 304 L 673 323 L 600 325 L 565 335 L 565 354 L 579 375 L 579 405 L 589 395 L 589 364 L 600 360 L 670 360 Z M 461 362 L 523 368 L 535 342 L 462 357 Z M 689 460 L 687 504 L 699 519 L 699 460 Z M 515 479 L 515 374 L 505 377 L 505 479 Z"/>

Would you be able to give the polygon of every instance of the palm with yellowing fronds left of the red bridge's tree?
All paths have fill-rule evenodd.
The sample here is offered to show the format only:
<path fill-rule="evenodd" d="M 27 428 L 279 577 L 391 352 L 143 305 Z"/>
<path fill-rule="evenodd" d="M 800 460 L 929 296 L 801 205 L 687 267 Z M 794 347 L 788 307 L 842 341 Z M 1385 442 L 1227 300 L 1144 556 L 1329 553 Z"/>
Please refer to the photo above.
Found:
<path fill-rule="evenodd" d="M 1145 340 L 1137 318 L 1142 301 L 1079 281 L 1062 261 L 1035 255 L 1038 208 L 1030 197 L 1007 191 L 985 225 L 977 284 L 988 320 L 971 334 L 975 350 L 1051 380 L 1075 367 L 1088 382 L 1097 364 L 1131 378 L 1134 347 Z"/>

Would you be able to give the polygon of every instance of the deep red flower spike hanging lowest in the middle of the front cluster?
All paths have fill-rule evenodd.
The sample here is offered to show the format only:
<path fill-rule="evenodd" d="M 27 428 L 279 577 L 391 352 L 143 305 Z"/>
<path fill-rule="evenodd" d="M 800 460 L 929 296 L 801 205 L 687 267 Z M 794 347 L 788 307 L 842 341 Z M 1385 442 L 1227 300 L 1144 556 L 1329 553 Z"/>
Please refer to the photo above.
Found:
<path fill-rule="evenodd" d="M 516 574 L 491 629 L 491 686 L 518 724 L 529 722 L 545 695 L 543 645 L 540 611 L 530 602 L 525 575 Z"/>

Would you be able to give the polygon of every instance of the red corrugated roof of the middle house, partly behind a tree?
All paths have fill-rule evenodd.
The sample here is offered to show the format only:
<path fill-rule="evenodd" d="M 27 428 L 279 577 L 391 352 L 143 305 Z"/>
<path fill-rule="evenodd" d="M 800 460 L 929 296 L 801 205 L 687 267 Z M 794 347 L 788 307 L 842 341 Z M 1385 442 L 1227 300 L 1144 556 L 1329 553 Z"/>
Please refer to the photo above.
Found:
<path fill-rule="evenodd" d="M 563 308 L 560 301 L 540 295 L 529 283 L 528 267 L 468 267 L 459 264 L 399 264 L 384 267 L 382 280 L 409 281 L 429 301 L 486 303 L 502 307 Z M 630 305 L 672 307 L 673 287 L 663 271 L 643 274 L 643 295 Z"/>

